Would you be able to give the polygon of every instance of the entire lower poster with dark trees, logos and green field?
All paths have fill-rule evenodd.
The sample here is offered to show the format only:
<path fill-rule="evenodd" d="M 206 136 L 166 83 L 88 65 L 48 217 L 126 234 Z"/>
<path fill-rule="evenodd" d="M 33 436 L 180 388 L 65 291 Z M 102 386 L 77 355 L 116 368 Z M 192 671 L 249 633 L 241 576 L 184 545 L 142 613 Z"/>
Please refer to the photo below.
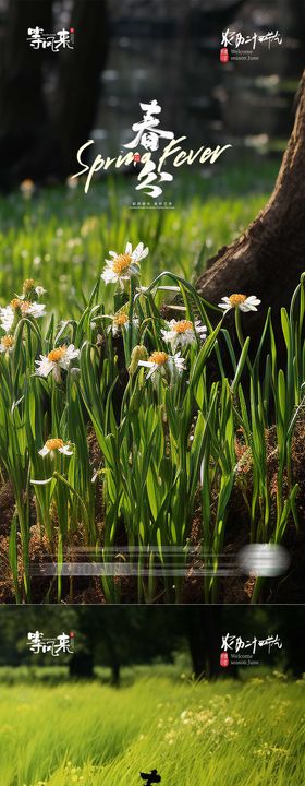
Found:
<path fill-rule="evenodd" d="M 303 606 L 0 608 L 1 786 L 303 786 Z"/>

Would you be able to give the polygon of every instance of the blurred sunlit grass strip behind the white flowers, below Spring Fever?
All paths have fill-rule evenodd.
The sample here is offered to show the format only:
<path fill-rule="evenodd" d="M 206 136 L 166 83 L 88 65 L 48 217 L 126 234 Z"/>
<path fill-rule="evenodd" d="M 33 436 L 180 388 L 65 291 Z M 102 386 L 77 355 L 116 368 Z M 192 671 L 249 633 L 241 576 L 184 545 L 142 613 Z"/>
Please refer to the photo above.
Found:
<path fill-rule="evenodd" d="M 142 239 L 149 247 L 143 283 L 162 270 L 196 279 L 205 260 L 255 217 L 272 190 L 278 164 L 221 168 L 209 179 L 175 178 L 174 210 L 131 210 L 132 178 L 83 187 L 45 189 L 30 199 L 0 198 L 0 305 L 25 278 L 48 290 L 48 308 L 80 317 L 109 249 Z M 167 196 L 168 198 L 168 196 Z"/>

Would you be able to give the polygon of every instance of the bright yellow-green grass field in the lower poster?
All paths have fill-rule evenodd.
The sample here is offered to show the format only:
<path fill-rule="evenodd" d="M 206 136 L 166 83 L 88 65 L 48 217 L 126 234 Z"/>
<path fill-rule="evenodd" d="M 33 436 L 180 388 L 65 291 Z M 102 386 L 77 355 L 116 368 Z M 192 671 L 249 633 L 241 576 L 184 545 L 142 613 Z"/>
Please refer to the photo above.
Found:
<path fill-rule="evenodd" d="M 303 786 L 304 681 L 1 686 L 1 786 Z M 163 675 L 166 675 L 163 667 Z"/>

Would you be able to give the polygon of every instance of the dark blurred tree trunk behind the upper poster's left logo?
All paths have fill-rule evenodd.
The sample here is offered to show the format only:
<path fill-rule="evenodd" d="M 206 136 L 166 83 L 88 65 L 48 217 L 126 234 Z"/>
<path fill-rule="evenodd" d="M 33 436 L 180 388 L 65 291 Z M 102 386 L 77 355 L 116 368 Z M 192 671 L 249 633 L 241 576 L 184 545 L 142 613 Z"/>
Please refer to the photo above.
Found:
<path fill-rule="evenodd" d="M 107 2 L 74 0 L 70 24 L 78 36 L 73 49 L 34 49 L 27 29 L 38 26 L 51 33 L 53 5 L 52 0 L 10 0 L 8 4 L 0 61 L 2 186 L 28 177 L 69 175 L 93 128 L 108 51 Z M 46 73 L 54 58 L 56 100 L 50 107 Z"/>

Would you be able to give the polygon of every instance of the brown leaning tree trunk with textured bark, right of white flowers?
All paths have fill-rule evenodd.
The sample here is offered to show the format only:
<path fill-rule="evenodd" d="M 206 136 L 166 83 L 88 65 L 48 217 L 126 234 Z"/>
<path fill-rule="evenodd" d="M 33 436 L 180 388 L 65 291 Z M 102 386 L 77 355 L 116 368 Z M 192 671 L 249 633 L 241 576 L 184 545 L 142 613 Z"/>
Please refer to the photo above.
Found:
<path fill-rule="evenodd" d="M 261 330 L 266 310 L 288 306 L 305 270 L 305 72 L 298 107 L 276 187 L 266 207 L 230 246 L 209 260 L 196 288 L 218 303 L 224 295 L 242 293 L 261 300 L 247 314 L 247 332 Z"/>

